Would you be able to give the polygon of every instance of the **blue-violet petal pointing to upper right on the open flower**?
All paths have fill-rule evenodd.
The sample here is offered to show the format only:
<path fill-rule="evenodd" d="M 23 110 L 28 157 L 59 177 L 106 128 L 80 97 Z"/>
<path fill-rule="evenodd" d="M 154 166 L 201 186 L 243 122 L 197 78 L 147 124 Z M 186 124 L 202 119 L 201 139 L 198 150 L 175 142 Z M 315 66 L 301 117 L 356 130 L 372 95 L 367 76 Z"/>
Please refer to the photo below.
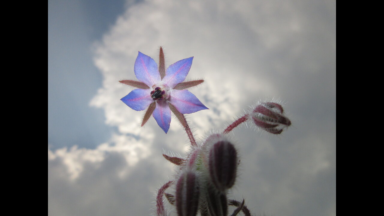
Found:
<path fill-rule="evenodd" d="M 185 58 L 170 65 L 167 69 L 166 76 L 163 78 L 163 83 L 172 89 L 184 81 L 192 66 L 192 60 L 193 57 Z"/>

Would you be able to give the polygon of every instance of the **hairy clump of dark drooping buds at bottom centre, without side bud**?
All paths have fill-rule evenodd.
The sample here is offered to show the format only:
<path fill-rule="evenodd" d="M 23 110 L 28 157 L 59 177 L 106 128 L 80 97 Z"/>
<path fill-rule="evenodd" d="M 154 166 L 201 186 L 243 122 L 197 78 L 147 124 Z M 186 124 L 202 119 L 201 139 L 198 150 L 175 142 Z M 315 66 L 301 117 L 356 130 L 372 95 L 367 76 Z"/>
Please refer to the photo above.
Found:
<path fill-rule="evenodd" d="M 209 136 L 187 159 L 164 157 L 180 167 L 173 181 L 175 194 L 167 194 L 178 216 L 227 216 L 227 193 L 236 180 L 238 158 L 225 135 Z"/>

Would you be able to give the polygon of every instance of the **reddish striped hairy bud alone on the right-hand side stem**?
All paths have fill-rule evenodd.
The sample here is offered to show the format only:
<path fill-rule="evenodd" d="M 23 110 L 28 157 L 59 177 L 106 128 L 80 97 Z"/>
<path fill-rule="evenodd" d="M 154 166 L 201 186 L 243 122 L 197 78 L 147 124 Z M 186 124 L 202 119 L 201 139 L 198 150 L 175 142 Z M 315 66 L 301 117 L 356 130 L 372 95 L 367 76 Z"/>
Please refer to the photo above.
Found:
<path fill-rule="evenodd" d="M 257 105 L 250 117 L 258 128 L 273 134 L 280 134 L 291 125 L 291 121 L 283 115 L 283 107 L 273 102 Z"/>

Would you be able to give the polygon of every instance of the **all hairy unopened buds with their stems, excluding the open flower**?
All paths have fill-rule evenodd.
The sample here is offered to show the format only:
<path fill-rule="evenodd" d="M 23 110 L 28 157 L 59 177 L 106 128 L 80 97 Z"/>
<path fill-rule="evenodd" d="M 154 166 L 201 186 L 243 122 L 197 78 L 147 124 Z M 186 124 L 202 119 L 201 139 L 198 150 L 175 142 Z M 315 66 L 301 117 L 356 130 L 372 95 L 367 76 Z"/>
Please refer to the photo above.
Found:
<path fill-rule="evenodd" d="M 244 200 L 240 203 L 227 198 L 228 190 L 236 181 L 239 160 L 235 145 L 226 134 L 246 121 L 273 134 L 280 134 L 291 125 L 291 121 L 283 115 L 281 105 L 261 102 L 229 125 L 223 133 L 208 136 L 200 145 L 191 140 L 192 150 L 187 158 L 163 155 L 178 166 L 178 173 L 174 180 L 161 188 L 163 191 L 159 190 L 156 202 L 158 216 L 168 215 L 162 206 L 162 194 L 175 207 L 178 216 L 227 216 L 228 206 L 236 208 L 231 216 L 240 212 L 245 216 L 251 215 Z M 168 187 L 173 188 L 174 192 L 166 193 Z"/>

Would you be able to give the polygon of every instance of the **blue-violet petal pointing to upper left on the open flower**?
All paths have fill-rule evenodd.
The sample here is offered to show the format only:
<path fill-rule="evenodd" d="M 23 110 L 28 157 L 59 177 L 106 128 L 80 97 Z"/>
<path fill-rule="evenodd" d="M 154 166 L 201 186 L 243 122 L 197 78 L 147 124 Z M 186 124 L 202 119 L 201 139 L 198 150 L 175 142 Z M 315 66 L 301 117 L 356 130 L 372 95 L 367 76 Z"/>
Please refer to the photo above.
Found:
<path fill-rule="evenodd" d="M 141 52 L 137 55 L 134 71 L 137 80 L 145 83 L 149 87 L 161 81 L 155 60 Z"/>

